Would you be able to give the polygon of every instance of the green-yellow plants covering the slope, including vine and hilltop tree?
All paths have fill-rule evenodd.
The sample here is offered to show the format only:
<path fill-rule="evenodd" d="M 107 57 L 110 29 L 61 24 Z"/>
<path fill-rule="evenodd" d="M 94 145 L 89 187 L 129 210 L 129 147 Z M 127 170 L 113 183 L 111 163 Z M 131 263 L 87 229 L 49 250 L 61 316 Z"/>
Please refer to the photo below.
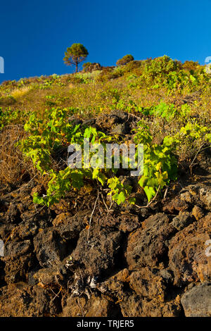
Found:
<path fill-rule="evenodd" d="M 88 52 L 84 46 L 74 45 L 80 44 L 67 50 L 65 61 L 75 63 L 77 71 L 77 64 Z M 1 141 L 6 130 L 11 132 L 8 139 L 13 144 L 11 156 L 14 154 L 17 171 L 27 171 L 30 177 L 35 171 L 46 188 L 45 194 L 34 194 L 34 203 L 50 206 L 67 192 L 90 185 L 105 190 L 117 204 L 134 204 L 134 192 L 143 194 L 149 202 L 162 196 L 170 181 L 177 180 L 181 162 L 193 173 L 196 156 L 211 142 L 210 74 L 203 66 L 162 56 L 146 61 L 126 58 L 116 67 L 101 68 L 98 63 L 85 63 L 83 67 L 80 73 L 0 85 Z M 82 124 L 83 120 L 118 110 L 134 119 L 129 135 L 113 135 L 109 130 Z M 75 120 L 80 122 L 75 124 Z M 14 127 L 19 128 L 20 135 L 15 135 Z M 82 145 L 84 138 L 105 148 L 108 142 L 122 144 L 128 139 L 143 144 L 139 186 L 125 185 L 116 169 L 68 167 L 68 146 Z M 2 165 L 8 165 L 6 151 L 1 157 Z M 8 185 L 10 178 L 8 175 Z M 3 170 L 0 181 L 5 182 Z"/>

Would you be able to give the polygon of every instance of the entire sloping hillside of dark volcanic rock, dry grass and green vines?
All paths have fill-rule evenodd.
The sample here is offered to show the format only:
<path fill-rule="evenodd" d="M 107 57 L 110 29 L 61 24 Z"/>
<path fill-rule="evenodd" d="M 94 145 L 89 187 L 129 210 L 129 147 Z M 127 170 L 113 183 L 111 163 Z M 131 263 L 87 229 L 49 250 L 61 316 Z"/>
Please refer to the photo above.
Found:
<path fill-rule="evenodd" d="M 211 316 L 210 73 L 84 68 L 0 85 L 0 316 Z M 84 139 L 143 175 L 68 167 Z"/>

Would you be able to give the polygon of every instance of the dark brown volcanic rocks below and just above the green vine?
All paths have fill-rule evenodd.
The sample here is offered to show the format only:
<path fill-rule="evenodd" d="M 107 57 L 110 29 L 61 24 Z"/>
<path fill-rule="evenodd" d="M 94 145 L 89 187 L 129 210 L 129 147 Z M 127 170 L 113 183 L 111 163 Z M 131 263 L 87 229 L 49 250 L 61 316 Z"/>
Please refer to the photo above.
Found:
<path fill-rule="evenodd" d="M 127 135 L 134 119 L 109 116 L 86 124 Z M 0 316 L 211 316 L 209 162 L 143 208 L 101 192 L 94 210 L 94 189 L 35 208 L 33 179 L 2 190 Z"/>

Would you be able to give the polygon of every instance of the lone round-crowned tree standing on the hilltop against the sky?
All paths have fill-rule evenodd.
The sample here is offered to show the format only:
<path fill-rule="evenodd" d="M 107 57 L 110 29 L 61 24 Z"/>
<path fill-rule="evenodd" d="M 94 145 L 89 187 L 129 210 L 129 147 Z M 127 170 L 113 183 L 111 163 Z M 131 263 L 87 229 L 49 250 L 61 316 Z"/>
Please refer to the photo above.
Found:
<path fill-rule="evenodd" d="M 66 65 L 75 65 L 75 72 L 77 73 L 78 65 L 87 58 L 87 49 L 82 44 L 72 44 L 65 51 L 63 58 Z"/>

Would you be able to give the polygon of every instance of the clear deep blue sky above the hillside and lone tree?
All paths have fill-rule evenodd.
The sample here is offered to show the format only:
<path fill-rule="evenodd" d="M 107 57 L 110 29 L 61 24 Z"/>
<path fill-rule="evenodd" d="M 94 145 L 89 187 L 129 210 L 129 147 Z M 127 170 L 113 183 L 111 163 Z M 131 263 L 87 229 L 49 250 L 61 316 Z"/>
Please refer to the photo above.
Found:
<path fill-rule="evenodd" d="M 3 80 L 71 73 L 63 63 L 75 42 L 87 61 L 114 65 L 164 54 L 205 64 L 211 56 L 211 0 L 7 0 L 0 4 Z"/>

